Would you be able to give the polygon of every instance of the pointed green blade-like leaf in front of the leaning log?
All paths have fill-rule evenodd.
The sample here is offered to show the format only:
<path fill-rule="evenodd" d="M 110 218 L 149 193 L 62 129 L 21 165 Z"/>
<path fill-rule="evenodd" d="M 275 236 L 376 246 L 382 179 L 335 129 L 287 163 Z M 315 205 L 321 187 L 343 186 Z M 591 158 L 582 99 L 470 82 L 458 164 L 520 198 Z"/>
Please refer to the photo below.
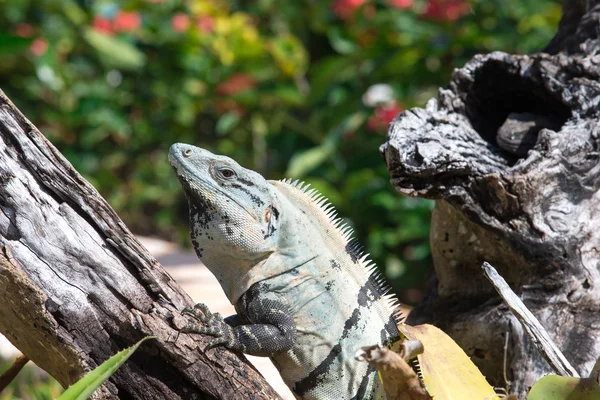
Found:
<path fill-rule="evenodd" d="M 142 343 L 148 339 L 154 339 L 154 336 L 146 336 L 136 344 L 121 350 L 108 360 L 104 361 L 93 371 L 89 372 L 86 376 L 71 385 L 65 392 L 58 398 L 58 400 L 86 400 L 94 393 L 100 385 L 102 385 L 108 378 L 111 377 L 115 371 L 123 365 L 125 361 Z"/>

